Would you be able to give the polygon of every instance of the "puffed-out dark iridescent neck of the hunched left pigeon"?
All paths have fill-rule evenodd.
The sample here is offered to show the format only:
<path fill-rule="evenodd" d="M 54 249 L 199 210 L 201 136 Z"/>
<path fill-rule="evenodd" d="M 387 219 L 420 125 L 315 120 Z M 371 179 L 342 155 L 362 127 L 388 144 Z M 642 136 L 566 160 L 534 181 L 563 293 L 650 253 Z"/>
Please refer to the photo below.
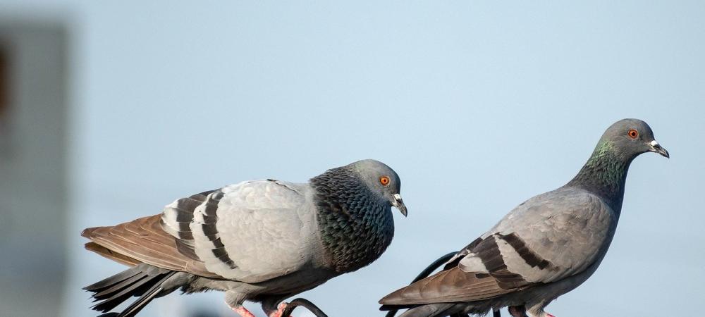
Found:
<path fill-rule="evenodd" d="M 378 199 L 350 170 L 334 168 L 311 180 L 321 243 L 331 268 L 355 271 L 391 243 L 391 204 Z"/>

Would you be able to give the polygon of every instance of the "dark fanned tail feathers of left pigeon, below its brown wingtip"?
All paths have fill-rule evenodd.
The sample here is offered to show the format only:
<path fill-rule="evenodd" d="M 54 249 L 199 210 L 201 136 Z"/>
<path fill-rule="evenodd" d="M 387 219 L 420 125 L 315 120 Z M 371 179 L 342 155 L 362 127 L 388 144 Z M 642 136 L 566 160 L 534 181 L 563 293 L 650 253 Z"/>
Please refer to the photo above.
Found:
<path fill-rule="evenodd" d="M 94 293 L 91 297 L 94 302 L 99 303 L 93 306 L 92 309 L 106 313 L 101 315 L 101 317 L 132 317 L 164 290 L 161 287 L 162 283 L 175 273 L 176 271 L 140 264 L 88 285 L 83 289 Z M 139 296 L 140 298 L 121 313 L 107 313 L 133 296 Z"/>

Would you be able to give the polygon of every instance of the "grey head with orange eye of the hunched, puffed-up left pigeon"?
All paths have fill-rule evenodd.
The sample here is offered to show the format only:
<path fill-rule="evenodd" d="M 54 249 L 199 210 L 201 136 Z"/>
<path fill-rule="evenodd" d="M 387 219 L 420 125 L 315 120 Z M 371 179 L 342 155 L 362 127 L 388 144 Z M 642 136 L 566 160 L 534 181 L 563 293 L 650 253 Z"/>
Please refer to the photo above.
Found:
<path fill-rule="evenodd" d="M 344 167 L 355 173 L 374 194 L 386 200 L 406 216 L 407 210 L 399 194 L 401 180 L 399 175 L 386 164 L 372 159 L 350 163 Z"/>

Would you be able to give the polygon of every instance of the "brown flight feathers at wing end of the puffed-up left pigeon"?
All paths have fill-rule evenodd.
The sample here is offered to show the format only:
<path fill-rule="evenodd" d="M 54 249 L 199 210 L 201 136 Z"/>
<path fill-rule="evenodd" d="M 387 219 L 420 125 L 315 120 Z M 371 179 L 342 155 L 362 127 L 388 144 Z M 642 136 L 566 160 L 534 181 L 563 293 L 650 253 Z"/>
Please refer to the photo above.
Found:
<path fill-rule="evenodd" d="M 222 278 L 209 272 L 202 262 L 179 251 L 175 238 L 161 228 L 161 215 L 138 218 L 111 227 L 87 228 L 81 235 L 104 248 L 89 246 L 89 242 L 86 249 L 123 264 L 137 261 L 172 271 Z"/>

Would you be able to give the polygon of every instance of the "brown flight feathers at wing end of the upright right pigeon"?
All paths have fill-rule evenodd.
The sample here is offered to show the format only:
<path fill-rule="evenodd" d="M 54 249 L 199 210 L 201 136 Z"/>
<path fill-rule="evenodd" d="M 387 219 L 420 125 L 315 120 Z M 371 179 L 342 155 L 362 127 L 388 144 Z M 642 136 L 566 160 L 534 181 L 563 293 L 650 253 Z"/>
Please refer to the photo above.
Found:
<path fill-rule="evenodd" d="M 388 294 L 379 303 L 410 305 L 474 302 L 498 297 L 529 286 L 504 289 L 500 284 L 501 282 L 489 274 L 467 273 L 456 266 Z"/>

